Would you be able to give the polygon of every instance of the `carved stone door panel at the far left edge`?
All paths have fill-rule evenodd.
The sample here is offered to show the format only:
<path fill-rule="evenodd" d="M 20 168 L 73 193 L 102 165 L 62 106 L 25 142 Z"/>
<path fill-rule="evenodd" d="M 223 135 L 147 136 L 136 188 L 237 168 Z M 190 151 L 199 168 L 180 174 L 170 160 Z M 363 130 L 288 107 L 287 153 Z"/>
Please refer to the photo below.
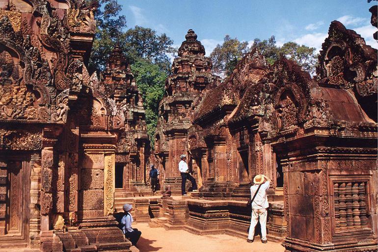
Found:
<path fill-rule="evenodd" d="M 0 157 L 0 248 L 28 242 L 30 165 L 25 156 Z"/>

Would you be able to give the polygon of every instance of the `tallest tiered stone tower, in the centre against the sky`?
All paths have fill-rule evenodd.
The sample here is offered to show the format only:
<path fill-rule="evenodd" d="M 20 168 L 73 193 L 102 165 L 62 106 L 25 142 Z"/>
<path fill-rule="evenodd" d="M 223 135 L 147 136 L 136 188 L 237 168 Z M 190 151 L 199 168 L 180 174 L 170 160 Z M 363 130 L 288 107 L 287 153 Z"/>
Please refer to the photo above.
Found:
<path fill-rule="evenodd" d="M 177 194 L 181 192 L 178 163 L 180 155 L 188 151 L 186 137 L 194 108 L 202 98 L 203 89 L 217 80 L 210 73 L 212 62 L 205 57 L 205 49 L 194 31 L 189 29 L 185 38 L 179 48 L 179 57 L 173 61 L 172 74 L 166 80 L 155 140 L 155 156 L 159 160 L 163 183 L 171 185 Z"/>

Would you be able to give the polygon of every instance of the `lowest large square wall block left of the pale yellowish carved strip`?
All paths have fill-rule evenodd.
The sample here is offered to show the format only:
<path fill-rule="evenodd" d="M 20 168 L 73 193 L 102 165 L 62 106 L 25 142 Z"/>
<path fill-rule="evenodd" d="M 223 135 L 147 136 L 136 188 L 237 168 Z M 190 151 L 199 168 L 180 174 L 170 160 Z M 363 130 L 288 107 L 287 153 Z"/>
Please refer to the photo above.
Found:
<path fill-rule="evenodd" d="M 79 194 L 79 209 L 102 210 L 104 209 L 103 190 L 83 190 Z"/>

